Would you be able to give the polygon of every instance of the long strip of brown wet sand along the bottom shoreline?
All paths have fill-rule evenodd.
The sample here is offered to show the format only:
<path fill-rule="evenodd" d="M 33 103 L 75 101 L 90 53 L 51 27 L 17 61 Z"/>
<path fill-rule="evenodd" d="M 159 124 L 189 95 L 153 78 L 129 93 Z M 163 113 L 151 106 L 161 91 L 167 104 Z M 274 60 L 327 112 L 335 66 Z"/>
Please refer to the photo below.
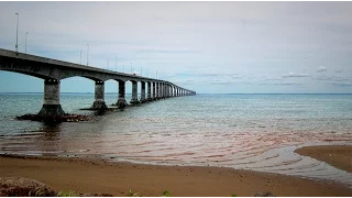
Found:
<path fill-rule="evenodd" d="M 40 180 L 56 191 L 111 194 L 125 197 L 131 189 L 143 197 L 352 196 L 352 188 L 333 182 L 224 167 L 157 166 L 109 163 L 102 160 L 0 156 L 0 177 L 21 176 Z"/>

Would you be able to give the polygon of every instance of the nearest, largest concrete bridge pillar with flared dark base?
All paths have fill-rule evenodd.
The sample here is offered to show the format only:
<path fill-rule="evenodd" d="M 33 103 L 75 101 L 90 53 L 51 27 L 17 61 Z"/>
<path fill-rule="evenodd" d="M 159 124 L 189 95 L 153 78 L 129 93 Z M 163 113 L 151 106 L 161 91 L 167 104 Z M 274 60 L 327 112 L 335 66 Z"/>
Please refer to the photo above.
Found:
<path fill-rule="evenodd" d="M 45 79 L 44 103 L 38 116 L 62 116 L 65 114 L 59 105 L 59 80 Z"/>

